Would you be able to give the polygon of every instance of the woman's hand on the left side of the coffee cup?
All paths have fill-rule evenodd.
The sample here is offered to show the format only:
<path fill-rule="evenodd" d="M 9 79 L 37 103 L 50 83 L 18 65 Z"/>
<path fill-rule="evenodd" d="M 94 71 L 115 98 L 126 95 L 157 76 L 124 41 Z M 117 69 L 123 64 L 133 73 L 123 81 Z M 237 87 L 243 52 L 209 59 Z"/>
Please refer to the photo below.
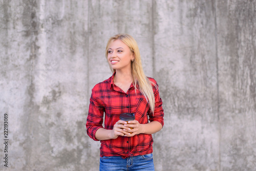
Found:
<path fill-rule="evenodd" d="M 127 136 L 127 137 L 130 136 L 132 133 L 129 133 L 126 131 L 126 130 L 129 130 L 129 127 L 125 126 L 126 124 L 127 124 L 126 121 L 123 121 L 123 120 L 117 121 L 111 132 L 111 139 L 116 139 L 119 135 Z"/>

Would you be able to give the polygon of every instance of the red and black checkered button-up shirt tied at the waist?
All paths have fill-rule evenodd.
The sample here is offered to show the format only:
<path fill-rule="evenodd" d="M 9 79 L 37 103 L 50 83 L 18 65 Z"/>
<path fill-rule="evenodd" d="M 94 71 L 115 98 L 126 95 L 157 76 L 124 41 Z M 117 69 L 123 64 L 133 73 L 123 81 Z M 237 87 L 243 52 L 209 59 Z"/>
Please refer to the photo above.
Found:
<path fill-rule="evenodd" d="M 121 113 L 135 113 L 135 120 L 145 124 L 150 121 L 163 123 L 162 100 L 159 96 L 158 84 L 155 79 L 148 77 L 156 84 L 152 85 L 155 94 L 154 115 L 150 105 L 139 91 L 131 84 L 125 93 L 113 83 L 114 74 L 109 79 L 96 84 L 92 89 L 89 113 L 87 117 L 87 134 L 95 141 L 96 131 L 103 127 L 103 113 L 105 113 L 104 129 L 113 130 Z M 148 115 L 148 117 L 147 117 Z M 122 158 L 146 155 L 153 152 L 153 138 L 149 134 L 139 134 L 133 137 L 119 136 L 117 139 L 101 140 L 100 156 L 122 156 Z"/>

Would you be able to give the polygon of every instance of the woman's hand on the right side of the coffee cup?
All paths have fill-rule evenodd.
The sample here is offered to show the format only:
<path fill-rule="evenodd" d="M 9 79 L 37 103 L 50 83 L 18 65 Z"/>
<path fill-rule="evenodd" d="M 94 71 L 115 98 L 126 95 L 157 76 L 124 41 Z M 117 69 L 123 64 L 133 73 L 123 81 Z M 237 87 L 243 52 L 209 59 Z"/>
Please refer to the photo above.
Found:
<path fill-rule="evenodd" d="M 124 124 L 124 126 L 127 129 L 124 129 L 123 131 L 125 131 L 127 133 L 131 133 L 129 135 L 125 134 L 124 136 L 133 137 L 135 135 L 144 133 L 144 126 L 143 126 L 143 124 L 140 124 L 137 120 L 128 121 L 128 123 Z M 132 127 L 133 129 L 130 129 L 130 127 Z"/>

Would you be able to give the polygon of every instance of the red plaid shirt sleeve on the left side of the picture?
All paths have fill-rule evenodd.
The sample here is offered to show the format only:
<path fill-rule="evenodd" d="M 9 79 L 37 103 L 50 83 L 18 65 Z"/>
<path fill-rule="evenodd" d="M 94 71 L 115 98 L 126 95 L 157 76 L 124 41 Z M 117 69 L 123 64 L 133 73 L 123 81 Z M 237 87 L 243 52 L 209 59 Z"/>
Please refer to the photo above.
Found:
<path fill-rule="evenodd" d="M 95 89 L 95 88 L 94 88 Z M 100 129 L 103 123 L 104 107 L 99 103 L 96 98 L 95 90 L 92 90 L 90 98 L 89 112 L 86 122 L 87 134 L 95 141 L 99 141 L 95 137 L 95 133 Z"/>

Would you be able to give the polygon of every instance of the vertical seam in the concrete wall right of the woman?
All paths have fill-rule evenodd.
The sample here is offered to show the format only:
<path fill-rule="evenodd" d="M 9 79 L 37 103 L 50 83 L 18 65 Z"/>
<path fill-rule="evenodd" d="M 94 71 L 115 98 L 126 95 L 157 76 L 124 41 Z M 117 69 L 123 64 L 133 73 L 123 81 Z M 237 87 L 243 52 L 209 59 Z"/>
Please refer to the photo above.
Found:
<path fill-rule="evenodd" d="M 217 1 L 214 5 L 214 22 L 215 22 L 215 50 L 216 50 L 216 76 L 217 76 L 217 117 L 219 129 L 219 170 L 221 170 L 221 127 L 220 127 L 220 97 L 219 97 L 219 60 L 218 60 L 218 32 L 217 32 Z"/>

